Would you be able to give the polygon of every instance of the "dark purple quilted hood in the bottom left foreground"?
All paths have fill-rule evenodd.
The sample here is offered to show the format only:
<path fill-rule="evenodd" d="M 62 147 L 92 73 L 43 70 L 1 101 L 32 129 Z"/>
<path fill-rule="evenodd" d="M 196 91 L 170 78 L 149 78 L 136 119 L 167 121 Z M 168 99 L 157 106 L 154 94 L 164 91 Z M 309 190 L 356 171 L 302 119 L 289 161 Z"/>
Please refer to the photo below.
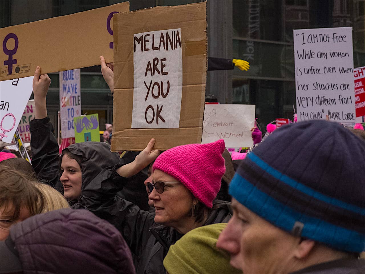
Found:
<path fill-rule="evenodd" d="M 87 210 L 32 216 L 12 226 L 9 238 L 7 245 L 17 252 L 23 273 L 135 273 L 119 231 Z"/>

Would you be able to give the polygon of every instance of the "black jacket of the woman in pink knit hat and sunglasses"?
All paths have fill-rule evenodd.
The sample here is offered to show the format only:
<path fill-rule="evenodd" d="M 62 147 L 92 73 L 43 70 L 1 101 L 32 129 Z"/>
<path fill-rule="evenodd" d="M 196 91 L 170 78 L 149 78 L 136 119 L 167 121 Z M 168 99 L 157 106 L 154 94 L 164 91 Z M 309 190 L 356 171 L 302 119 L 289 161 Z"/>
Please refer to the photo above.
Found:
<path fill-rule="evenodd" d="M 183 235 L 155 223 L 154 212 L 140 210 L 125 199 L 115 199 L 115 192 L 125 180 L 115 169 L 105 169 L 85 187 L 78 207 L 90 210 L 118 228 L 131 248 L 137 274 L 164 274 L 163 260 L 169 247 Z M 228 222 L 229 205 L 229 202 L 215 200 L 204 225 Z"/>

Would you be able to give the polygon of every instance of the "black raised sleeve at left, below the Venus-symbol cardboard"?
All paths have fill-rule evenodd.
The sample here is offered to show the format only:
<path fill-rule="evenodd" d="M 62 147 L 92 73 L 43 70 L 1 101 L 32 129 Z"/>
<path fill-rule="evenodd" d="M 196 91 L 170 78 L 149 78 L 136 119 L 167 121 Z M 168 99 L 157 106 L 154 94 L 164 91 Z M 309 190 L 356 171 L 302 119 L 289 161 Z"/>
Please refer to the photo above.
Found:
<path fill-rule="evenodd" d="M 53 125 L 47 116 L 44 119 L 30 121 L 30 148 L 32 151 L 32 166 L 37 176 L 50 186 L 63 193 L 59 181 L 58 143 L 54 137 Z"/>

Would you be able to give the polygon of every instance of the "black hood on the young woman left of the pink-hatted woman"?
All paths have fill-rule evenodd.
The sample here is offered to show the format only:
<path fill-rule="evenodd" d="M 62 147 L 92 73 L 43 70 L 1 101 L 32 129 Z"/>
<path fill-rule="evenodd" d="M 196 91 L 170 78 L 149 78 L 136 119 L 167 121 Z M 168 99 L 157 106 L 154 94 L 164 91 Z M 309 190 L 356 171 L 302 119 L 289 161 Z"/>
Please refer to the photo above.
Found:
<path fill-rule="evenodd" d="M 102 142 L 82 142 L 68 146 L 66 150 L 82 157 L 82 189 L 87 186 L 104 168 L 119 163 L 119 154 L 110 152 L 110 146 Z"/>

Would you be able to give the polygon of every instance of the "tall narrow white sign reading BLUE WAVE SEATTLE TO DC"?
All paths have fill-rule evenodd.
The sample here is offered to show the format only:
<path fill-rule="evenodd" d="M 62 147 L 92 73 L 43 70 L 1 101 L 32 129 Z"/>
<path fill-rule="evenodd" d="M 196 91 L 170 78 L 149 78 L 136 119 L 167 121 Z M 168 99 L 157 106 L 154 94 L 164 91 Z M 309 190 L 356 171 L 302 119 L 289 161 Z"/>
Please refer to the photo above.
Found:
<path fill-rule="evenodd" d="M 73 117 L 81 115 L 80 69 L 59 72 L 59 113 L 62 138 L 75 137 Z"/>

